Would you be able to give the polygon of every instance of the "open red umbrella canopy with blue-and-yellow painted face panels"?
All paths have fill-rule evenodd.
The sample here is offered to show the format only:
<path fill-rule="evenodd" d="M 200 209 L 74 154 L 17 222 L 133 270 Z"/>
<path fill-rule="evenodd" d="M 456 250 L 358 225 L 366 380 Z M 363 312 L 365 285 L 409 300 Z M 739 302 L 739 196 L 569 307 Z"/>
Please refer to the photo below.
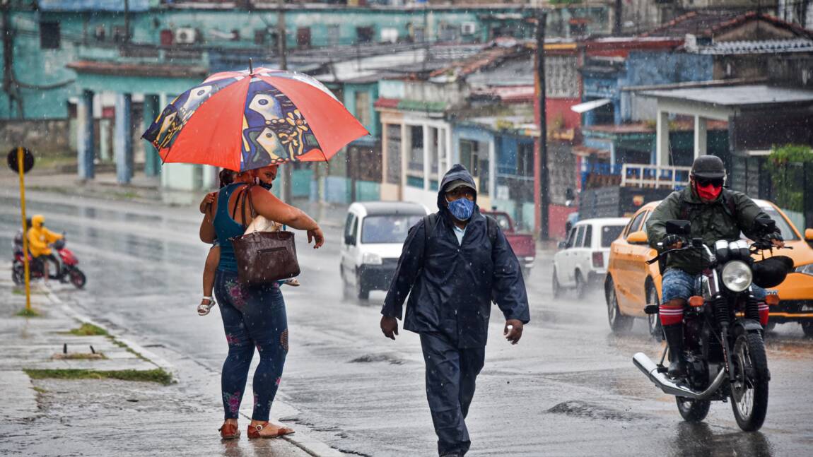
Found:
<path fill-rule="evenodd" d="M 163 162 L 242 171 L 327 161 L 367 134 L 319 81 L 260 67 L 209 76 L 176 97 L 141 137 Z"/>

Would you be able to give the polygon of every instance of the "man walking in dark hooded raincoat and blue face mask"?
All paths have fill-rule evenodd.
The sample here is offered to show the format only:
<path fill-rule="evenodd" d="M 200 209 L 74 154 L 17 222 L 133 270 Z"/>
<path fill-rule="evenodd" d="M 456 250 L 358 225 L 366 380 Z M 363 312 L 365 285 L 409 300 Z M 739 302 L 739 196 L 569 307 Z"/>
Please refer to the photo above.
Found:
<path fill-rule="evenodd" d="M 476 197 L 472 175 L 453 166 L 437 193 L 437 213 L 406 237 L 381 309 L 381 331 L 395 339 L 409 295 L 404 329 L 420 334 L 441 457 L 465 455 L 471 446 L 464 419 L 483 368 L 492 300 L 512 344 L 530 318 L 520 263 L 497 222 L 480 214 Z"/>

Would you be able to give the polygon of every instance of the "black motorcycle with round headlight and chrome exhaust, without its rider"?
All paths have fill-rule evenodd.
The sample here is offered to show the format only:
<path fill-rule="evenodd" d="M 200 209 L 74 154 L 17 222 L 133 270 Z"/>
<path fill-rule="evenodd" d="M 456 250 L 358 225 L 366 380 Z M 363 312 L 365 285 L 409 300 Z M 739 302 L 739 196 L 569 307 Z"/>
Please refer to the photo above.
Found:
<path fill-rule="evenodd" d="M 760 233 L 774 230 L 775 222 L 758 219 Z M 668 221 L 667 233 L 688 236 L 689 221 Z M 758 430 L 767 412 L 768 383 L 763 326 L 759 322 L 759 304 L 752 284 L 769 289 L 785 280 L 793 260 L 785 256 L 764 257 L 772 252 L 771 241 L 749 244 L 741 239 L 716 241 L 712 250 L 702 239 L 692 239 L 689 246 L 660 252 L 650 260 L 665 264 L 672 252 L 689 249 L 702 253 L 706 269 L 701 274 L 702 296 L 689 299 L 683 317 L 686 376 L 667 376 L 663 366 L 668 348 L 655 364 L 638 352 L 633 364 L 666 394 L 675 395 L 677 409 L 684 420 L 700 422 L 706 418 L 712 401 L 731 399 L 737 425 L 744 431 Z M 754 261 L 752 254 L 763 254 Z M 767 304 L 776 304 L 776 293 L 767 296 Z M 647 314 L 658 313 L 658 305 L 646 307 Z"/>

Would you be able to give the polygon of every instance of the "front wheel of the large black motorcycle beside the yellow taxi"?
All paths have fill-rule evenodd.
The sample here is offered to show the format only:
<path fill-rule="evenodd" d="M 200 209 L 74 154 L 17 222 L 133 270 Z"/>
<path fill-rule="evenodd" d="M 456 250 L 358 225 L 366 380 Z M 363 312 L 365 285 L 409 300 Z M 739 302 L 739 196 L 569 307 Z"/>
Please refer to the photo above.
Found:
<path fill-rule="evenodd" d="M 759 332 L 737 336 L 731 361 L 734 372 L 731 408 L 734 418 L 743 431 L 759 430 L 767 413 L 767 385 L 770 380 L 765 343 Z"/>

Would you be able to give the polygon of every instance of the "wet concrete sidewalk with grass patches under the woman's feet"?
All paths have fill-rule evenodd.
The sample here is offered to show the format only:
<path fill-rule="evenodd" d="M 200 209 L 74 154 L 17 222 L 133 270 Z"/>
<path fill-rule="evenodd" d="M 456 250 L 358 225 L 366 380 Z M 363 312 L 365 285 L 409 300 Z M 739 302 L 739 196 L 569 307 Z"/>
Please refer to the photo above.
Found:
<path fill-rule="evenodd" d="M 249 441 L 250 398 L 241 438 L 222 442 L 217 373 L 196 364 L 176 369 L 76 313 L 71 302 L 84 292 L 52 287 L 33 284 L 40 315 L 19 316 L 24 292 L 0 269 L 0 455 L 343 455 L 305 427 L 286 439 Z M 83 323 L 105 334 L 70 333 Z"/>

